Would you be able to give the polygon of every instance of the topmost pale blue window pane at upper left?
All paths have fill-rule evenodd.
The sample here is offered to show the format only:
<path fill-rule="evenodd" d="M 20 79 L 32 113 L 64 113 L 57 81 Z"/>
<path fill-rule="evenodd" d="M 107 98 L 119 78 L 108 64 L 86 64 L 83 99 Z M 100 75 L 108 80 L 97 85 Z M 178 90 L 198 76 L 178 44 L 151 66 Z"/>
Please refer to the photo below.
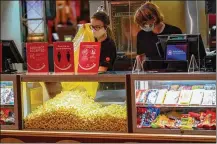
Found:
<path fill-rule="evenodd" d="M 26 1 L 27 19 L 43 18 L 43 1 Z"/>

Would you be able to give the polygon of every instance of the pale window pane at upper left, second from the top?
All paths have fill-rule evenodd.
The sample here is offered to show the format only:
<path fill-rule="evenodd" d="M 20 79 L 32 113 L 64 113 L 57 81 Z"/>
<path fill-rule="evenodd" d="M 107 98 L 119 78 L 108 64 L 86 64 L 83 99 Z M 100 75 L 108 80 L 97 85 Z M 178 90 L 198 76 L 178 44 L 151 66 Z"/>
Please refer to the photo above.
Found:
<path fill-rule="evenodd" d="M 28 34 L 44 33 L 43 20 L 28 20 Z"/>

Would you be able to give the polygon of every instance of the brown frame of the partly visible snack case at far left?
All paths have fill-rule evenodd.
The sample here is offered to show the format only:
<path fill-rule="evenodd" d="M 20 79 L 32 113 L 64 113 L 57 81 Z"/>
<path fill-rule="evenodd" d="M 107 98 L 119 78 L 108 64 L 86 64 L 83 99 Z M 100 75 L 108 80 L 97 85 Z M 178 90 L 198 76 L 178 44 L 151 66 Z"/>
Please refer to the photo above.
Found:
<path fill-rule="evenodd" d="M 1 125 L 2 130 L 18 130 L 22 129 L 22 111 L 21 111 L 21 85 L 19 75 L 2 74 L 1 81 L 12 81 L 14 91 L 14 114 L 15 124 L 14 125 Z M 5 108 L 6 106 L 1 105 L 0 107 Z"/>

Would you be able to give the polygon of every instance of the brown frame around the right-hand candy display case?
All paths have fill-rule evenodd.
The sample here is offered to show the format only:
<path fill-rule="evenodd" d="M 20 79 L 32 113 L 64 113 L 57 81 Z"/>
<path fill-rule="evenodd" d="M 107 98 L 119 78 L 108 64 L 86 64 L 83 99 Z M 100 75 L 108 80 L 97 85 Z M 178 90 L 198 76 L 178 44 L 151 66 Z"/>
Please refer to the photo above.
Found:
<path fill-rule="evenodd" d="M 130 76 L 131 87 L 131 114 L 132 114 L 132 131 L 134 133 L 153 133 L 153 134 L 184 134 L 184 135 L 216 135 L 216 130 L 170 130 L 170 129 L 152 129 L 144 128 L 140 129 L 136 126 L 136 103 L 135 103 L 135 85 L 136 80 L 216 80 L 215 74 L 145 74 L 145 75 L 131 75 Z M 198 106 L 200 107 L 200 106 Z M 184 107 L 183 107 L 184 108 Z"/>

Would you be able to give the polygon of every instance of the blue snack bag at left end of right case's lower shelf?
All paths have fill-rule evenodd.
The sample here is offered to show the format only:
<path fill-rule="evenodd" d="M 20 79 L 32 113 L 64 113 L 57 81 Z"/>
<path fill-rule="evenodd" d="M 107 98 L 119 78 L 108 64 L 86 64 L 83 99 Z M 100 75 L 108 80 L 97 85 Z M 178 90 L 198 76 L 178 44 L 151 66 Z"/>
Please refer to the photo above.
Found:
<path fill-rule="evenodd" d="M 147 108 L 147 111 L 142 115 L 142 127 L 150 127 L 151 123 L 156 119 L 159 113 L 159 108 Z"/>

